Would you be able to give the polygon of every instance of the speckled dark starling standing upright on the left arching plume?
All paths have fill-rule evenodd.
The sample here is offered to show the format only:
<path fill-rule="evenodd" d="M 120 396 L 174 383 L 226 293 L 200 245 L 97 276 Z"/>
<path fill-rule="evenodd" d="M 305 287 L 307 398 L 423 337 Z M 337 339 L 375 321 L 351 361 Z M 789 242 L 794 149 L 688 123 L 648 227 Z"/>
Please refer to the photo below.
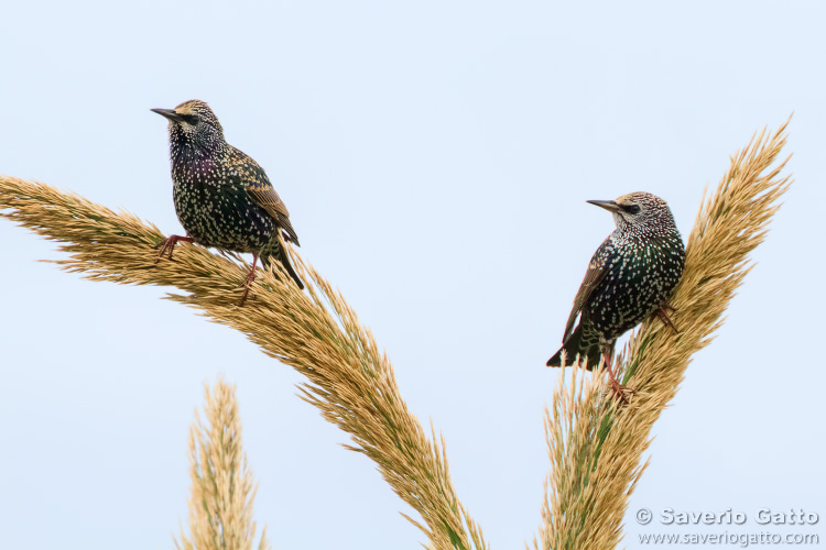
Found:
<path fill-rule="evenodd" d="M 298 246 L 279 194 L 263 168 L 224 139 L 224 129 L 204 101 L 184 101 L 174 109 L 152 109 L 170 121 L 170 157 L 175 212 L 187 237 L 163 241 L 157 258 L 178 241 L 196 242 L 233 252 L 251 252 L 252 270 L 241 304 L 256 279 L 259 256 L 267 266 L 281 262 L 300 288 L 301 278 L 290 264 L 283 239 Z M 156 263 L 157 261 L 155 261 Z"/>

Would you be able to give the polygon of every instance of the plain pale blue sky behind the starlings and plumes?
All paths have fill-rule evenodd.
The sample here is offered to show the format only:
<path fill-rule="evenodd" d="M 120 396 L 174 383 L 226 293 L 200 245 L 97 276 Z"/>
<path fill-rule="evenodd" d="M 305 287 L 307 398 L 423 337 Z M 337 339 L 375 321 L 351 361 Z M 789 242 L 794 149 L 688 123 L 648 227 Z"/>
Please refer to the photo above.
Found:
<path fill-rule="evenodd" d="M 542 410 L 590 255 L 585 202 L 704 186 L 794 111 L 796 179 L 715 342 L 654 426 L 633 514 L 813 510 L 826 543 L 823 2 L 6 2 L 0 173 L 180 232 L 166 121 L 199 98 L 268 172 L 301 254 L 387 350 L 447 441 L 493 549 L 540 524 Z M 163 549 L 186 521 L 203 384 L 238 384 L 273 548 L 416 549 L 407 508 L 302 378 L 161 298 L 83 280 L 0 221 L 0 530 L 15 549 Z"/>

